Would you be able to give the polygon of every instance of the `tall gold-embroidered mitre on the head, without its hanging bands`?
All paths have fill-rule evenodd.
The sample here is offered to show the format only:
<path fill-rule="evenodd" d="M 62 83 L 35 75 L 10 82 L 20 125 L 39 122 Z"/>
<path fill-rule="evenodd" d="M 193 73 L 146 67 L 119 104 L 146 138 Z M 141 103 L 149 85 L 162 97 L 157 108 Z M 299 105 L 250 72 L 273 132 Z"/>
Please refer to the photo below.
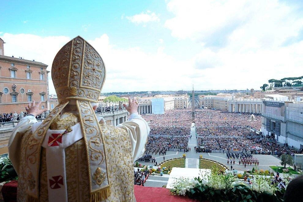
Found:
<path fill-rule="evenodd" d="M 81 36 L 59 50 L 51 70 L 59 103 L 71 99 L 97 102 L 105 75 L 101 56 Z"/>

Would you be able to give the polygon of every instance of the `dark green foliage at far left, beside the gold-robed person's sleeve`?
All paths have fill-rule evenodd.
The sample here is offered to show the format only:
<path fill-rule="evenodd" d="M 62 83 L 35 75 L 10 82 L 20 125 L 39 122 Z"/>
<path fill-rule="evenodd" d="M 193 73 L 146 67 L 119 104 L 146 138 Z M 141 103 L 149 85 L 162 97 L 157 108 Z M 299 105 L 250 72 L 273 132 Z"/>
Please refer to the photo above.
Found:
<path fill-rule="evenodd" d="M 0 159 L 0 182 L 16 180 L 17 173 L 8 157 Z"/>

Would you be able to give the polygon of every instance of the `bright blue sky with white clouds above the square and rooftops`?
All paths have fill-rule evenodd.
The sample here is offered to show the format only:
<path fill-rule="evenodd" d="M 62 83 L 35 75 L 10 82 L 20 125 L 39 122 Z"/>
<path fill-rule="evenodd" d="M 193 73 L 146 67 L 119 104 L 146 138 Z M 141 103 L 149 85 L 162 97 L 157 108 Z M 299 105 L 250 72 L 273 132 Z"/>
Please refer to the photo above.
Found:
<path fill-rule="evenodd" d="M 51 71 L 78 35 L 106 65 L 102 92 L 260 90 L 303 75 L 302 1 L 1 1 L 7 56 Z"/>

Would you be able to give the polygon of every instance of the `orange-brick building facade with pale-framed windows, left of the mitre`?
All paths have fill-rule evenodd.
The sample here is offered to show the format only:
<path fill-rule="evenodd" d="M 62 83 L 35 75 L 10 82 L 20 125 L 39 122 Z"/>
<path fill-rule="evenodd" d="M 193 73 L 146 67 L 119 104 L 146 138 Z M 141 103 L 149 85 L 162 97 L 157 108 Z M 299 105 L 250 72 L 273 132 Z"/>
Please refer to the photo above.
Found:
<path fill-rule="evenodd" d="M 33 100 L 47 108 L 47 65 L 0 55 L 0 112 L 25 110 Z"/>

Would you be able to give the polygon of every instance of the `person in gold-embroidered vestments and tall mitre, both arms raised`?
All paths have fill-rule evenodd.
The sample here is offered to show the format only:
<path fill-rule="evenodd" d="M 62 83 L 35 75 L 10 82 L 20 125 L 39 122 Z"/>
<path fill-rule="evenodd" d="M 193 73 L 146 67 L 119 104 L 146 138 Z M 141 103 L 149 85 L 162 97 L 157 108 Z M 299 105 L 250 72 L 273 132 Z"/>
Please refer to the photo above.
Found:
<path fill-rule="evenodd" d="M 135 201 L 133 162 L 145 151 L 150 128 L 124 105 L 129 120 L 106 125 L 94 110 L 106 69 L 98 52 L 77 36 L 57 53 L 52 79 L 59 104 L 47 111 L 28 104 L 9 139 L 9 157 L 18 174 L 18 201 Z"/>

